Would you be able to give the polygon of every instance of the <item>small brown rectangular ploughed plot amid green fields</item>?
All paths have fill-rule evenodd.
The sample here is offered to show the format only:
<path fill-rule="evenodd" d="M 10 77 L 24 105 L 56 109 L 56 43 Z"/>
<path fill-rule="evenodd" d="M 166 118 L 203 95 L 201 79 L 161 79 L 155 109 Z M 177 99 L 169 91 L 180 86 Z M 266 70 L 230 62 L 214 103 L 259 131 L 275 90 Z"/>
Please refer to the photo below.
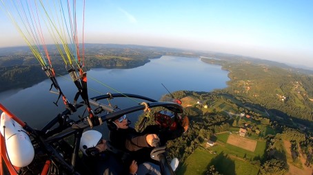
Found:
<path fill-rule="evenodd" d="M 239 148 L 243 148 L 245 150 L 254 152 L 257 141 L 254 141 L 252 139 L 248 139 L 245 137 L 241 137 L 239 135 L 230 135 L 228 137 L 227 143 L 230 143 L 231 145 L 235 145 Z"/>

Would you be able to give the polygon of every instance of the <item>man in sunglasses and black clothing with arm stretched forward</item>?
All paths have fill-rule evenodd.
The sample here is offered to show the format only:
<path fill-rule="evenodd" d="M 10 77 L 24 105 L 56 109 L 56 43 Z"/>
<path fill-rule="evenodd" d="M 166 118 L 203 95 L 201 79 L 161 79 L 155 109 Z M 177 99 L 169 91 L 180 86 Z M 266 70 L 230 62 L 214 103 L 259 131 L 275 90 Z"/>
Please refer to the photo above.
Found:
<path fill-rule="evenodd" d="M 188 129 L 188 117 L 184 119 L 188 122 L 185 122 L 184 126 L 179 126 L 177 130 L 161 130 L 159 126 L 148 126 L 143 132 L 137 132 L 129 126 L 127 116 L 123 115 L 114 121 L 108 121 L 110 141 L 119 150 L 130 152 L 132 159 L 139 164 L 139 172 L 144 168 L 160 171 L 159 163 L 150 158 L 150 152 L 156 147 L 155 143 L 159 142 L 163 145 L 168 140 L 180 137 Z M 146 165 L 147 163 L 148 165 Z M 171 165 L 173 165 L 172 169 L 175 170 L 178 159 L 174 159 L 174 163 L 172 162 Z"/>

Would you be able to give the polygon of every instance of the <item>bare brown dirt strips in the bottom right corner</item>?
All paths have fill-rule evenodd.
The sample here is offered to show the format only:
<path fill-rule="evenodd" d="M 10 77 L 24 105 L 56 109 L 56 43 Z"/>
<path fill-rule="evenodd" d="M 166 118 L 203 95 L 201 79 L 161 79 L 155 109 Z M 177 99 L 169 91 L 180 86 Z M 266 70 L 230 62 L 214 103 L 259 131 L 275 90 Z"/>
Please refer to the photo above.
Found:
<path fill-rule="evenodd" d="M 285 146 L 287 163 L 289 165 L 289 171 L 286 173 L 286 175 L 313 175 L 313 170 L 310 167 L 306 167 L 304 165 L 305 159 L 302 155 L 300 156 L 300 160 L 301 160 L 303 169 L 300 169 L 299 167 L 292 165 L 290 163 L 290 159 L 292 159 L 292 155 L 291 155 L 291 151 L 290 151 L 291 143 L 290 143 L 290 141 L 284 140 L 283 145 Z"/>

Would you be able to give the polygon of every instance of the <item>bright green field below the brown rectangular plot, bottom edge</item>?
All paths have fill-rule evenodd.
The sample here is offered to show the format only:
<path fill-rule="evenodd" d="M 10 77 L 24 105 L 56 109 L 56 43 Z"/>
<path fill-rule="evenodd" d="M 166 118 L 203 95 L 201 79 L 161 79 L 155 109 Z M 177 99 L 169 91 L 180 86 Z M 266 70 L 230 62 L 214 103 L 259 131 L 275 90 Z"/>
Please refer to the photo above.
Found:
<path fill-rule="evenodd" d="M 265 141 L 257 141 L 254 152 L 244 150 L 227 143 L 229 132 L 217 134 L 216 145 L 206 147 L 206 143 L 196 150 L 179 167 L 176 174 L 203 174 L 208 165 L 214 165 L 221 174 L 254 175 L 259 172 L 259 165 L 252 165 L 250 161 L 263 159 Z M 216 154 L 212 154 L 216 152 Z M 227 168 L 225 168 L 227 167 Z"/>

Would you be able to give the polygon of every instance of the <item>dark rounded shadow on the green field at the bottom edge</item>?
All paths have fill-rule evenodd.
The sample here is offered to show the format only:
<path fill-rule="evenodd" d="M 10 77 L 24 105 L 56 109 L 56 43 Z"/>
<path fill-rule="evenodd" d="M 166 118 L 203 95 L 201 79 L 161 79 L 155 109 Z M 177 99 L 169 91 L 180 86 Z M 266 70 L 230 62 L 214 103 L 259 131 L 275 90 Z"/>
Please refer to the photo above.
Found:
<path fill-rule="evenodd" d="M 219 174 L 225 175 L 236 174 L 234 161 L 232 161 L 232 159 L 228 157 L 228 154 L 224 154 L 224 152 L 221 152 L 219 155 L 217 155 L 216 157 L 214 157 L 214 159 L 211 160 L 207 167 L 207 170 L 210 170 L 210 167 L 212 165 L 214 165 L 214 170 L 218 171 Z"/>

